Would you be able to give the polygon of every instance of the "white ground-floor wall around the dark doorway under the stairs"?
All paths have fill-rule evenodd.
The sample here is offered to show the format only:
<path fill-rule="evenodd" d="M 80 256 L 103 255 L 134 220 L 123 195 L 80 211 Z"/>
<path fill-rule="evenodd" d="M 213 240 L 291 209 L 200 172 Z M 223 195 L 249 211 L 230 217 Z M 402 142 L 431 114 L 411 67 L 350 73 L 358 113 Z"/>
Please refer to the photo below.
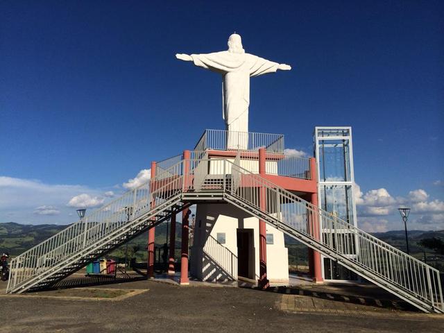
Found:
<path fill-rule="evenodd" d="M 237 229 L 252 229 L 254 239 L 255 280 L 259 279 L 259 220 L 230 204 L 200 204 L 196 209 L 194 244 L 191 248 L 191 274 L 202 280 L 237 280 Z M 225 244 L 219 244 L 218 232 L 225 233 Z M 267 244 L 268 280 L 289 280 L 288 250 L 284 234 L 266 225 L 274 244 Z M 252 267 L 253 268 L 253 267 Z"/>

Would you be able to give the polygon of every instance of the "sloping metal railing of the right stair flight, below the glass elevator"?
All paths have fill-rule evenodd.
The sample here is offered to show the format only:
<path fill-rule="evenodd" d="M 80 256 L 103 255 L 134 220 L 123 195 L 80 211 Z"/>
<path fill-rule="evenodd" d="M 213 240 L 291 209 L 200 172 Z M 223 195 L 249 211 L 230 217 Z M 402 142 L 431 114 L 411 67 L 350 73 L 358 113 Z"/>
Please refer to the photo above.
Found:
<path fill-rule="evenodd" d="M 225 163 L 230 163 L 226 161 Z M 363 268 L 364 278 L 377 280 L 416 298 L 429 308 L 444 311 L 439 271 L 390 246 L 346 221 L 311 205 L 258 175 L 232 165 L 233 182 L 240 182 L 231 195 L 255 210 L 271 216 L 327 250 L 326 254 L 348 268 Z M 234 172 L 236 170 L 236 172 Z M 236 180 L 235 178 L 239 178 Z M 319 221 L 323 230 L 319 228 Z M 322 237 L 321 237 L 322 234 Z M 352 265 L 350 265 L 352 264 Z"/>

